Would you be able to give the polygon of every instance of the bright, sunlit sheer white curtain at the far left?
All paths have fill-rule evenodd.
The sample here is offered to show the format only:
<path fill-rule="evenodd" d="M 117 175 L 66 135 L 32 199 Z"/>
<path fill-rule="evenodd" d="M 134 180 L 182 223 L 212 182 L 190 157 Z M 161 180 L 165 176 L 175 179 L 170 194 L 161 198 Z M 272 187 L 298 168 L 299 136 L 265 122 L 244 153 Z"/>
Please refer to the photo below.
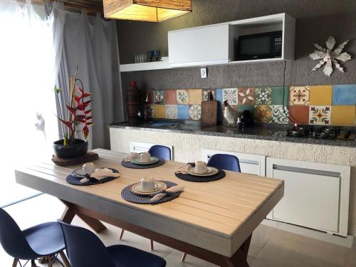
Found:
<path fill-rule="evenodd" d="M 1 181 L 14 185 L 14 167 L 46 157 L 58 138 L 53 35 L 43 6 L 0 1 Z M 0 187 L 0 206 L 28 190 Z M 15 186 L 16 187 L 16 186 Z"/>

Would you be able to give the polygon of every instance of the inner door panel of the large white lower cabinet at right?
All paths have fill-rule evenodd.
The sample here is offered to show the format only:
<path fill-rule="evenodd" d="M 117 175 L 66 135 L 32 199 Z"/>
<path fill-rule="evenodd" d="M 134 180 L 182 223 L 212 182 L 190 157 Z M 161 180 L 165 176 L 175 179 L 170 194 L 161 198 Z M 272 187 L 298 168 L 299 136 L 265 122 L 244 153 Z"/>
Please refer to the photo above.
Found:
<path fill-rule="evenodd" d="M 340 177 L 303 173 L 288 167 L 273 169 L 273 177 L 285 182 L 284 197 L 273 209 L 273 219 L 338 231 Z"/>

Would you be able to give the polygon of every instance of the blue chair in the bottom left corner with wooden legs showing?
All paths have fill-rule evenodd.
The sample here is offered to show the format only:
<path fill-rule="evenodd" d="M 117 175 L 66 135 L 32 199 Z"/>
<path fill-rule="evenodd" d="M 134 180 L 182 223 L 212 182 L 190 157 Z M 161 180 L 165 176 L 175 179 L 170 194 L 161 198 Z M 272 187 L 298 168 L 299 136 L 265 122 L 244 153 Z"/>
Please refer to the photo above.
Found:
<path fill-rule="evenodd" d="M 42 257 L 47 259 L 48 266 L 52 266 L 58 253 L 66 267 L 70 267 L 63 253 L 66 246 L 61 226 L 57 222 L 39 224 L 21 231 L 16 221 L 4 209 L 0 209 L 0 243 L 4 251 L 14 257 L 13 267 L 20 260 L 31 261 L 32 266 L 36 266 L 34 261 Z M 55 255 L 53 261 L 52 255 Z"/>

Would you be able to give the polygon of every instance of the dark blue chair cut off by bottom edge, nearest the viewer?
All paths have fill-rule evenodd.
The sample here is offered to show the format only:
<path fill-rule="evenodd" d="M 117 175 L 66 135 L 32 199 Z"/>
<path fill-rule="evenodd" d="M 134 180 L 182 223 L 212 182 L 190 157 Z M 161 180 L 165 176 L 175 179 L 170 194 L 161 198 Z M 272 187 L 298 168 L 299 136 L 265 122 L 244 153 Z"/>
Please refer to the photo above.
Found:
<path fill-rule="evenodd" d="M 166 261 L 155 254 L 131 246 L 105 247 L 93 232 L 78 226 L 61 224 L 68 258 L 72 267 L 164 267 Z"/>

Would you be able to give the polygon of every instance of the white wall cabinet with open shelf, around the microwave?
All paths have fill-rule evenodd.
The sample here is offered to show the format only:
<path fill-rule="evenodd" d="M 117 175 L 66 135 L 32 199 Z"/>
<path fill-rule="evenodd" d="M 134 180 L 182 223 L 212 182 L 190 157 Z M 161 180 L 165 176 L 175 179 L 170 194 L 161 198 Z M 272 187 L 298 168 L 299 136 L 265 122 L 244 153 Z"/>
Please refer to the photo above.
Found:
<path fill-rule="evenodd" d="M 271 31 L 282 31 L 281 57 L 248 61 L 237 58 L 239 36 Z M 125 64 L 120 71 L 293 60 L 294 39 L 295 19 L 285 13 L 169 31 L 168 63 Z"/>

